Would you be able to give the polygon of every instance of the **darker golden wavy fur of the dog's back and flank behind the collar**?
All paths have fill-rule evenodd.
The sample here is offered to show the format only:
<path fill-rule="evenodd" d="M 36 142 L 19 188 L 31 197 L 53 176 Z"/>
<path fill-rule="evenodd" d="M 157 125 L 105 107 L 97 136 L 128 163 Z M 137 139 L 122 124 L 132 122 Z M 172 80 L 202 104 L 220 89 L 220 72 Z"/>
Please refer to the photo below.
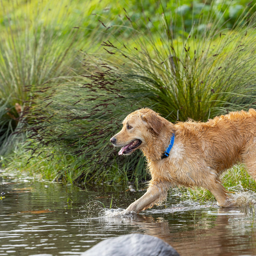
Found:
<path fill-rule="evenodd" d="M 188 121 L 175 126 L 185 145 L 201 149 L 207 164 L 220 173 L 243 162 L 256 138 L 256 111 L 251 108 L 248 112 L 217 116 L 206 123 Z"/>

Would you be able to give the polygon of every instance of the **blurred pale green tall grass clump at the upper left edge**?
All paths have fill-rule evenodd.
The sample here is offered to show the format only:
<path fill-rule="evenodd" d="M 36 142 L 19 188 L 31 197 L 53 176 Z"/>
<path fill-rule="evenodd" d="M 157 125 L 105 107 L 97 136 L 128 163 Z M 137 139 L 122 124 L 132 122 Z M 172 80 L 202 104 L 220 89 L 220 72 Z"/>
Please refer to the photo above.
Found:
<path fill-rule="evenodd" d="M 97 33 L 84 29 L 90 23 L 92 10 L 86 8 L 88 4 L 82 4 L 66 0 L 1 1 L 0 100 L 4 106 L 0 109 L 1 155 L 11 152 L 11 146 L 19 141 L 13 133 L 17 118 L 33 106 L 40 90 L 48 87 L 52 79 L 57 83 L 58 77 L 74 75 L 82 69 L 76 57 L 80 49 L 91 48 L 91 42 L 84 40 L 88 33 L 90 40 L 101 40 L 100 25 L 95 26 Z M 17 113 L 17 103 L 22 113 Z M 19 129 L 23 121 L 21 117 Z"/>

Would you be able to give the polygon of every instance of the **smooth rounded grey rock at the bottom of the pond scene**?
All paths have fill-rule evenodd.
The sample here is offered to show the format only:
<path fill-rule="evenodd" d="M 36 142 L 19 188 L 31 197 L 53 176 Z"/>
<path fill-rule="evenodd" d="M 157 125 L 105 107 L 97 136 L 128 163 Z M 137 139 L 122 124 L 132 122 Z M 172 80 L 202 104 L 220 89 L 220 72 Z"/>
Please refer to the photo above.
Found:
<path fill-rule="evenodd" d="M 129 234 L 101 241 L 81 256 L 180 256 L 163 240 L 142 234 Z"/>

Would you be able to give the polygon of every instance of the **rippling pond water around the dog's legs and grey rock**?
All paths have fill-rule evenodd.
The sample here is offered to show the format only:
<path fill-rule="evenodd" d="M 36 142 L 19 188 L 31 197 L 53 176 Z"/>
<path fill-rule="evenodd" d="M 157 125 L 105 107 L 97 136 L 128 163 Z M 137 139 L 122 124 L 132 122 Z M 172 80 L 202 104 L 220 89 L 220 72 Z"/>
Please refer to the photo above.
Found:
<path fill-rule="evenodd" d="M 256 204 L 224 209 L 170 193 L 165 206 L 121 216 L 143 194 L 126 189 L 0 176 L 0 256 L 80 255 L 102 239 L 129 233 L 157 236 L 181 256 L 256 254 Z M 236 197 L 255 200 L 250 192 Z"/>

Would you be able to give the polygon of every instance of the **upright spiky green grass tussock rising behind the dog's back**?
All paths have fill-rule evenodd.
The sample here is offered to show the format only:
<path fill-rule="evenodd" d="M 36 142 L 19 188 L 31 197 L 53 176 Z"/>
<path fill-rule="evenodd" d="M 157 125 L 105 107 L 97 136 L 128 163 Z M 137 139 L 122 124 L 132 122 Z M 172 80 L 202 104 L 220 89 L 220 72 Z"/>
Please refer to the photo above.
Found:
<path fill-rule="evenodd" d="M 192 28 L 186 38 L 176 39 L 178 32 L 164 16 L 164 35 L 151 33 L 152 23 L 147 35 L 134 35 L 133 44 L 119 46 L 112 39 L 103 45 L 113 62 L 126 65 L 115 70 L 123 86 L 143 88 L 148 106 L 171 121 L 207 120 L 255 102 L 255 14 L 247 18 L 246 30 L 242 16 L 241 27 L 231 31 L 212 26 L 201 33 Z M 208 19 L 207 24 L 218 24 Z M 131 22 L 131 29 L 138 31 L 139 26 Z"/>

